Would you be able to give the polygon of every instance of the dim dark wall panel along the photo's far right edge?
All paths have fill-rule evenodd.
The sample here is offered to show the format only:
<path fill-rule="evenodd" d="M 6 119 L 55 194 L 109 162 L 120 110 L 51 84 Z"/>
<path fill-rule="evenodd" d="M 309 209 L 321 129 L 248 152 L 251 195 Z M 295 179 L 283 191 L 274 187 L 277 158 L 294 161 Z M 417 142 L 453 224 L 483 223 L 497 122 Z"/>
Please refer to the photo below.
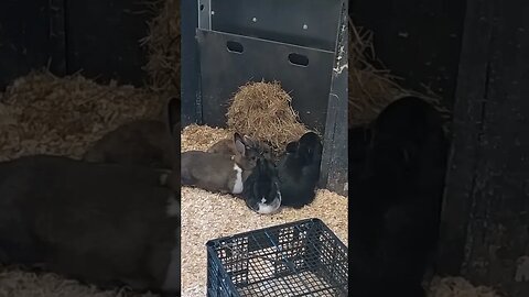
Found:
<path fill-rule="evenodd" d="M 529 296 L 516 279 L 529 264 L 529 3 L 488 1 L 492 34 L 483 102 L 482 161 L 468 223 L 463 273 Z"/>

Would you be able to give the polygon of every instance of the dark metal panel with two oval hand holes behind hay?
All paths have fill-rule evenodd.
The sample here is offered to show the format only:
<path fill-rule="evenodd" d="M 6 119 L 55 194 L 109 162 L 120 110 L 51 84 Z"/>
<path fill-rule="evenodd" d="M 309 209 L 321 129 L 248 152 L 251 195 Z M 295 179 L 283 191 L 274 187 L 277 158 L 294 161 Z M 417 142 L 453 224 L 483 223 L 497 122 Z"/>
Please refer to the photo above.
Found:
<path fill-rule="evenodd" d="M 252 37 L 197 30 L 201 51 L 204 122 L 226 127 L 228 99 L 248 81 L 278 80 L 292 97 L 303 123 L 325 131 L 334 53 L 268 42 Z M 244 46 L 241 54 L 227 51 L 228 41 Z M 309 66 L 289 62 L 298 53 Z"/>

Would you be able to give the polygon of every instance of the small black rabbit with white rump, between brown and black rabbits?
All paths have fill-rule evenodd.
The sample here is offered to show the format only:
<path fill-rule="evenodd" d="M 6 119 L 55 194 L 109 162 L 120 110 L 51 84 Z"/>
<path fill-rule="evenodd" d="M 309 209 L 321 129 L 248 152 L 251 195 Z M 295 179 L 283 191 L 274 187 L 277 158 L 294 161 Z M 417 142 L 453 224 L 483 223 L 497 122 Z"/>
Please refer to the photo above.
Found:
<path fill-rule="evenodd" d="M 273 213 L 281 206 L 281 191 L 276 165 L 264 157 L 257 160 L 257 165 L 245 182 L 242 198 L 251 210 L 258 213 Z"/>

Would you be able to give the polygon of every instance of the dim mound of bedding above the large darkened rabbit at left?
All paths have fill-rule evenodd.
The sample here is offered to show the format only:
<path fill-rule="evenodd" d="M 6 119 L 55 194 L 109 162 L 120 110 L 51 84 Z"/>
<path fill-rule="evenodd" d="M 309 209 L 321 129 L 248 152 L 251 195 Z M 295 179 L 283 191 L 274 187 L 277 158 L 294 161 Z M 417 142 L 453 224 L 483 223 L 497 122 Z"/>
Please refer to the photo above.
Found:
<path fill-rule="evenodd" d="M 158 96 L 132 86 L 97 85 L 80 75 L 32 72 L 0 102 L 0 160 L 47 153 L 80 157 L 86 145 L 136 119 L 158 119 Z"/>

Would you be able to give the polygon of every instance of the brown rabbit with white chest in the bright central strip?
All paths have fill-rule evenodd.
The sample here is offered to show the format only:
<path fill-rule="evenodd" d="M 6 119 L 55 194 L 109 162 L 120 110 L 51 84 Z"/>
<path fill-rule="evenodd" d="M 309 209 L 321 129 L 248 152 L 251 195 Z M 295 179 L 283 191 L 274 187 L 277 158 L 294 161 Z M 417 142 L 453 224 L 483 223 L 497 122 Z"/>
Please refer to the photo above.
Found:
<path fill-rule="evenodd" d="M 214 193 L 241 194 L 256 167 L 259 153 L 239 133 L 234 134 L 235 155 L 202 151 L 182 153 L 181 183 Z"/>

